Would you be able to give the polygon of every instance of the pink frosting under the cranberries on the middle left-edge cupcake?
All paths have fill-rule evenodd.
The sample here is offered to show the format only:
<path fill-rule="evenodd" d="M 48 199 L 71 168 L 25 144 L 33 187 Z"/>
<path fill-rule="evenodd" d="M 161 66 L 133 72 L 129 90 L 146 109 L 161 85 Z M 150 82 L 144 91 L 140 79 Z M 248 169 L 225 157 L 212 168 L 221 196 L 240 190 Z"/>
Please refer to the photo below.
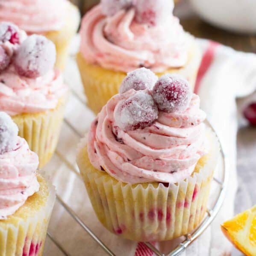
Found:
<path fill-rule="evenodd" d="M 2 46 L 10 56 L 19 47 L 18 44 L 9 42 Z M 31 79 L 19 76 L 11 64 L 0 73 L 0 111 L 13 116 L 54 109 L 59 98 L 67 94 L 67 91 L 68 87 L 58 70 L 51 70 L 42 77 Z"/>

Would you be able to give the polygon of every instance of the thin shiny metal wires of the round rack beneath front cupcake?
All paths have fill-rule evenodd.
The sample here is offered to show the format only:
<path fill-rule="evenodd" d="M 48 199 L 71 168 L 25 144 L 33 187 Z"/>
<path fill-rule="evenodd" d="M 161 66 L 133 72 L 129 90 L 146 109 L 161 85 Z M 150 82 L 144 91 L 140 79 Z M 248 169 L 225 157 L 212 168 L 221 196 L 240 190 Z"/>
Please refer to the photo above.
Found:
<path fill-rule="evenodd" d="M 77 97 L 77 99 L 80 101 L 80 103 L 86 105 L 84 100 L 82 100 L 79 95 L 73 91 L 73 95 Z M 209 126 L 213 129 L 212 125 L 208 122 Z M 82 137 L 82 134 L 77 131 L 77 129 L 74 128 L 74 126 L 67 120 L 65 119 L 65 123 L 68 125 L 68 127 L 79 137 Z M 213 129 L 214 130 L 214 129 Z M 219 139 L 220 141 L 220 139 Z M 221 141 L 220 141 L 221 144 Z M 56 151 L 56 155 L 59 157 L 59 159 L 65 163 L 65 165 L 72 171 L 74 172 L 77 177 L 80 177 L 79 172 L 77 168 L 68 161 L 68 159 L 65 158 L 65 156 L 60 153 L 59 151 Z M 227 180 L 228 180 L 228 171 L 227 171 L 227 156 L 224 153 L 223 147 L 221 146 L 221 156 L 222 156 L 222 165 L 223 165 L 223 177 L 222 180 L 219 180 L 217 178 L 214 178 L 213 180 L 220 185 L 220 193 L 219 196 L 212 207 L 212 209 L 207 209 L 207 215 L 204 218 L 203 222 L 200 224 L 200 226 L 191 234 L 187 234 L 185 240 L 180 243 L 174 250 L 169 252 L 168 254 L 163 254 L 161 253 L 156 247 L 154 247 L 150 243 L 144 243 L 147 247 L 149 247 L 154 253 L 156 253 L 157 256 L 178 256 L 180 253 L 182 253 L 193 241 L 195 241 L 203 232 L 206 230 L 206 228 L 211 224 L 213 219 L 216 217 L 218 211 L 221 208 L 221 205 L 224 201 L 226 190 L 227 190 Z M 82 221 L 81 219 L 77 216 L 77 214 L 61 199 L 61 197 L 57 196 L 57 200 L 59 203 L 66 209 L 66 211 L 71 215 L 72 218 L 74 218 L 75 221 L 96 241 L 102 249 L 108 253 L 110 256 L 115 256 L 115 254 L 104 244 L 95 234 L 92 232 Z M 48 234 L 49 235 L 49 234 Z M 63 252 L 63 254 L 68 255 L 61 245 L 51 236 L 49 235 L 51 240 L 56 244 L 57 247 Z"/>

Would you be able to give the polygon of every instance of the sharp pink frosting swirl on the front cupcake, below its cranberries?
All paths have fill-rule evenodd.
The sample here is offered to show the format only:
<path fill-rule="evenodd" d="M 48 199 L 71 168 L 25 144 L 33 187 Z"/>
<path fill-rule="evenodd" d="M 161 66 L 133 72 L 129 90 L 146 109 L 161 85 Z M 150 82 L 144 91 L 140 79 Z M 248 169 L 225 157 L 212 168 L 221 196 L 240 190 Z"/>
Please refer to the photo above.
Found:
<path fill-rule="evenodd" d="M 91 124 L 88 156 L 91 164 L 115 179 L 130 184 L 178 182 L 189 177 L 207 149 L 205 112 L 193 95 L 184 112 L 159 112 L 149 127 L 124 132 L 116 125 L 118 103 L 135 94 L 129 90 L 112 97 Z"/>

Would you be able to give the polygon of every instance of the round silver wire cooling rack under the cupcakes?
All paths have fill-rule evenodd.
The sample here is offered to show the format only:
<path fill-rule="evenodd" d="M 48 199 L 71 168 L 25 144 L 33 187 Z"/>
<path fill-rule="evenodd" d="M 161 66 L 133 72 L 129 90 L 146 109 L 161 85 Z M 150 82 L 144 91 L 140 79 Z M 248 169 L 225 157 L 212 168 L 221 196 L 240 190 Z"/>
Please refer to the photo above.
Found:
<path fill-rule="evenodd" d="M 80 104 L 86 107 L 86 101 L 83 98 L 82 94 L 77 92 L 77 90 L 74 89 L 74 87 L 71 87 L 71 96 L 76 98 Z M 212 125 L 209 123 L 209 121 L 206 121 L 210 127 Z M 78 138 L 82 138 L 83 133 L 79 131 L 75 126 L 77 127 L 77 124 L 72 124 L 72 122 L 68 119 L 64 119 L 64 124 L 67 126 L 75 136 Z M 221 145 L 221 141 L 220 141 Z M 60 150 L 56 150 L 55 156 L 59 158 L 59 160 L 66 165 L 69 171 L 73 172 L 78 179 L 82 179 L 80 177 L 77 165 L 72 163 L 68 158 L 65 156 L 65 153 L 62 153 Z M 194 240 L 196 240 L 203 232 L 206 230 L 206 228 L 211 224 L 213 219 L 216 217 L 218 211 L 221 208 L 221 205 L 224 201 L 225 193 L 227 190 L 227 179 L 228 179 L 228 171 L 227 171 L 227 161 L 228 158 L 226 154 L 224 153 L 224 149 L 221 145 L 221 159 L 219 165 L 221 165 L 221 173 L 218 175 L 218 177 L 214 177 L 214 182 L 216 183 L 216 186 L 218 187 L 218 195 L 213 200 L 212 206 L 209 207 L 206 211 L 206 216 L 203 219 L 200 226 L 194 230 L 194 232 L 191 232 L 187 235 L 185 235 L 184 241 L 182 241 L 180 244 L 177 245 L 177 247 L 170 251 L 167 254 L 161 253 L 153 244 L 145 242 L 144 244 L 149 247 L 157 256 L 177 256 L 180 253 L 182 253 Z M 80 227 L 88 233 L 88 235 L 91 236 L 91 239 L 93 239 L 95 242 L 97 242 L 98 246 L 102 248 L 105 253 L 107 253 L 110 256 L 115 256 L 116 254 L 112 252 L 112 250 L 109 249 L 108 245 L 104 243 L 104 241 L 101 241 L 100 238 L 98 238 L 97 235 L 91 230 L 88 225 L 86 225 L 81 218 L 78 217 L 77 213 L 71 209 L 71 206 L 69 206 L 67 203 L 62 200 L 62 197 L 57 194 L 57 201 L 59 204 L 65 209 L 65 211 L 71 216 L 71 218 L 74 219 L 74 221 L 77 222 L 77 224 L 80 225 Z M 73 234 L 72 234 L 73 235 Z M 59 248 L 60 252 L 63 255 L 66 256 L 72 256 L 67 252 L 67 250 L 64 249 L 63 244 L 61 244 L 57 238 L 55 238 L 49 231 L 47 232 L 48 238 L 56 245 L 56 247 Z M 73 235 L 75 236 L 75 234 Z"/>

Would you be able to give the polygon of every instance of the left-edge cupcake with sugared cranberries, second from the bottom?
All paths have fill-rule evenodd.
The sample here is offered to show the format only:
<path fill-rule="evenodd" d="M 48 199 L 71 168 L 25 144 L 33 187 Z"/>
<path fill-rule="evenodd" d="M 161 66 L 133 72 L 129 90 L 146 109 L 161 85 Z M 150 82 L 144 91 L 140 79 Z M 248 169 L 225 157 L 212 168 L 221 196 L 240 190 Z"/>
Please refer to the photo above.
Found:
<path fill-rule="evenodd" d="M 0 23 L 0 111 L 12 116 L 40 168 L 55 151 L 68 91 L 55 60 L 50 40 Z"/>

